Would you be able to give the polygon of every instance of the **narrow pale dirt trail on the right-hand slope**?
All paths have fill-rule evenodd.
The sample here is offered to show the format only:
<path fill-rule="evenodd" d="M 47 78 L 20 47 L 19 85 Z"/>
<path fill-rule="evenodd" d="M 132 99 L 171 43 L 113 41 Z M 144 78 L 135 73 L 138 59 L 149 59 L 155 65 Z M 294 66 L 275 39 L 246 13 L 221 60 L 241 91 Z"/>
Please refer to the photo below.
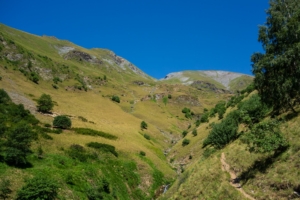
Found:
<path fill-rule="evenodd" d="M 241 187 L 241 184 L 239 183 L 239 178 L 235 175 L 233 171 L 230 170 L 229 164 L 226 163 L 226 158 L 224 153 L 222 153 L 221 155 L 221 163 L 222 163 L 222 171 L 226 171 L 230 174 L 230 185 L 235 187 L 235 189 L 237 189 L 240 193 L 242 193 L 244 197 L 246 197 L 247 199 L 255 200 L 253 197 L 247 194 Z"/>

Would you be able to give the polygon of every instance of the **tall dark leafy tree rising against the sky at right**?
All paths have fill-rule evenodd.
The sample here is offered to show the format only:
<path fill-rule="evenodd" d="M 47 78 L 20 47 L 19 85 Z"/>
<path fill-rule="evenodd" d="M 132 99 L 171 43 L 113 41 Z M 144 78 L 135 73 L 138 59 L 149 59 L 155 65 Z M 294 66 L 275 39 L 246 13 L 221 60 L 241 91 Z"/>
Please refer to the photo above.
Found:
<path fill-rule="evenodd" d="M 267 22 L 259 27 L 264 53 L 251 57 L 254 85 L 275 111 L 293 111 L 300 102 L 300 2 L 271 0 Z"/>

